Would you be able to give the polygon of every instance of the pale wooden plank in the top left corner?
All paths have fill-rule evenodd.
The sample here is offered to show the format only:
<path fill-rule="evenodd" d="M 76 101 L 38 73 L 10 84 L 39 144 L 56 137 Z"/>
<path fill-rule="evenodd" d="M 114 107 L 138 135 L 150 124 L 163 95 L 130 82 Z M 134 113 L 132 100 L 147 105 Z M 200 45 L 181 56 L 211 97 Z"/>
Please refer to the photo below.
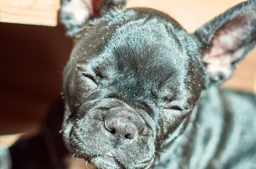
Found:
<path fill-rule="evenodd" d="M 0 22 L 56 26 L 60 0 L 0 0 Z"/>

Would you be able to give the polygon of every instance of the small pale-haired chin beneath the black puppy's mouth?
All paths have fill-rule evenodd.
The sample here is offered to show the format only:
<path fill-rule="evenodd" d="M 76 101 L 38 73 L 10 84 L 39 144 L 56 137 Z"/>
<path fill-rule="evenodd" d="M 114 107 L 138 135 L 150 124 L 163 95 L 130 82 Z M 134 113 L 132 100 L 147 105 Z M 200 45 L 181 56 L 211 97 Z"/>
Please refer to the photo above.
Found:
<path fill-rule="evenodd" d="M 93 157 L 89 162 L 96 165 L 99 169 L 120 169 L 120 166 L 116 163 L 116 159 L 112 155 Z"/>

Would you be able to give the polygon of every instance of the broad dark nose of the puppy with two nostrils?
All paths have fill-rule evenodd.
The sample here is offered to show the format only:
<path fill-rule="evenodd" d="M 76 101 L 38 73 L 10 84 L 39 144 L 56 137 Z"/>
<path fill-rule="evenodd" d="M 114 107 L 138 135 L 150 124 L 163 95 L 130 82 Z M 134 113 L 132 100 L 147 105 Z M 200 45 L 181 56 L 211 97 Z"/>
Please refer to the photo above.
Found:
<path fill-rule="evenodd" d="M 136 125 L 126 118 L 109 118 L 104 121 L 104 127 L 110 134 L 111 142 L 122 145 L 131 142 L 137 135 Z"/>

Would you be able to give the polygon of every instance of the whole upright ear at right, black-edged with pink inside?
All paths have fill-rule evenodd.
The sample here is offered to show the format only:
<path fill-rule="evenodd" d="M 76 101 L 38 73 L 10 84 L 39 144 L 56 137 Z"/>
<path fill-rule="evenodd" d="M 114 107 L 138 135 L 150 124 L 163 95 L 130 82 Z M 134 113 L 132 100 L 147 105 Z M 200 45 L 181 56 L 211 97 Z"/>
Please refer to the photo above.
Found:
<path fill-rule="evenodd" d="M 210 80 L 221 84 L 256 45 L 256 0 L 230 8 L 194 35 L 201 42 L 201 59 Z"/>

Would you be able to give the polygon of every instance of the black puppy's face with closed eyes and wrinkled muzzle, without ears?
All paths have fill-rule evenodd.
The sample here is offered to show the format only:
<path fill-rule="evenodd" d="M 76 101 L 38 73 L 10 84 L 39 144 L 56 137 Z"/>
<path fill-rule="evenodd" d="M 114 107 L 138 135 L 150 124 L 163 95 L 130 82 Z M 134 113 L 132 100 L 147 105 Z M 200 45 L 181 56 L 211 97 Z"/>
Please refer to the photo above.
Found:
<path fill-rule="evenodd" d="M 197 58 L 182 42 L 189 36 L 159 12 L 145 12 L 150 13 L 154 17 L 145 23 L 141 18 L 89 28 L 81 36 L 97 38 L 76 42 L 64 89 L 70 94 L 66 139 L 77 156 L 99 163 L 113 155 L 127 168 L 146 168 L 160 143 L 192 110 L 204 81 L 203 69 L 192 65 Z"/>

